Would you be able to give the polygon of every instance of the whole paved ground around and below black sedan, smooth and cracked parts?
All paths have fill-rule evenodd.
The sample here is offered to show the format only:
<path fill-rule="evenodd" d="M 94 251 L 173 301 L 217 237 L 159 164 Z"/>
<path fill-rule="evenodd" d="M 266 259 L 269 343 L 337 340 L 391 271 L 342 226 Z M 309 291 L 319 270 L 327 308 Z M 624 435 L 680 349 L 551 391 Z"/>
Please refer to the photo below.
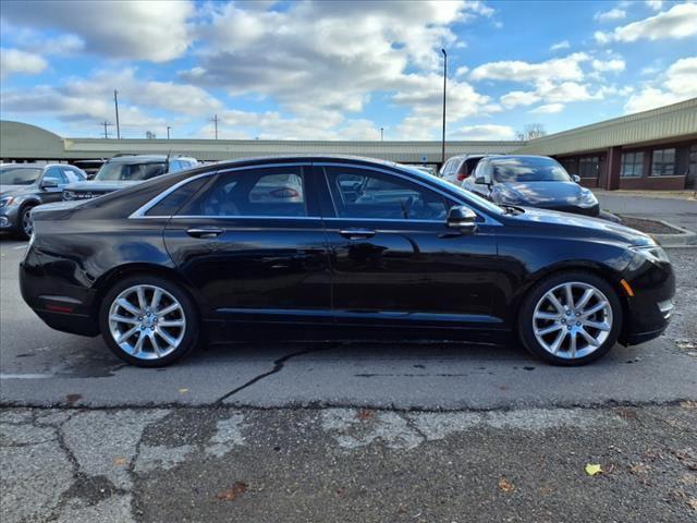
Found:
<path fill-rule="evenodd" d="M 0 240 L 0 521 L 695 521 L 695 253 L 667 333 L 583 368 L 405 340 L 140 369 L 34 317 Z"/>

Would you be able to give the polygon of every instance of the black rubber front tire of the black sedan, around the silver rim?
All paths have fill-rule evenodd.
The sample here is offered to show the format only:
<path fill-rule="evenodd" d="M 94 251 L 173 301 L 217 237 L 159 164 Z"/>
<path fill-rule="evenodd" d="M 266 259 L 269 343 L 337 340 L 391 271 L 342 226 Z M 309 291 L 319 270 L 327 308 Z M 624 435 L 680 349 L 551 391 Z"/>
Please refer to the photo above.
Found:
<path fill-rule="evenodd" d="M 535 335 L 534 327 L 535 308 L 538 302 L 542 299 L 542 296 L 547 294 L 548 291 L 557 288 L 558 285 L 562 285 L 568 282 L 579 282 L 595 287 L 607 297 L 612 312 L 612 325 L 604 341 L 589 354 L 575 358 L 568 357 L 568 354 L 571 354 L 571 352 L 567 348 L 565 351 L 563 349 L 560 351 L 561 354 L 566 354 L 566 357 L 561 357 L 546 350 L 545 346 L 538 341 Z M 578 303 L 578 300 L 574 301 Z M 564 316 L 561 317 L 564 318 Z M 573 314 L 571 315 L 571 319 L 572 323 L 575 321 Z M 564 320 L 568 321 L 567 319 Z M 533 289 L 529 290 L 529 292 L 523 299 L 523 303 L 521 305 L 517 330 L 518 337 L 525 348 L 537 357 L 545 360 L 546 362 L 549 362 L 553 365 L 575 366 L 594 362 L 607 354 L 617 341 L 617 337 L 620 336 L 620 331 L 622 330 L 622 304 L 620 303 L 620 299 L 617 297 L 617 293 L 614 291 L 614 289 L 604 279 L 591 272 L 574 270 L 549 276 L 539 281 L 537 284 L 535 284 L 535 287 L 533 287 Z M 553 321 L 550 320 L 550 325 L 552 323 Z M 564 332 L 562 329 L 560 329 L 560 331 Z M 555 337 L 557 335 L 554 333 L 553 336 Z M 566 335 L 564 335 L 564 337 Z M 543 341 L 546 340 L 543 339 Z M 562 343 L 562 348 L 564 346 L 564 343 L 568 343 L 568 341 L 564 341 Z"/>

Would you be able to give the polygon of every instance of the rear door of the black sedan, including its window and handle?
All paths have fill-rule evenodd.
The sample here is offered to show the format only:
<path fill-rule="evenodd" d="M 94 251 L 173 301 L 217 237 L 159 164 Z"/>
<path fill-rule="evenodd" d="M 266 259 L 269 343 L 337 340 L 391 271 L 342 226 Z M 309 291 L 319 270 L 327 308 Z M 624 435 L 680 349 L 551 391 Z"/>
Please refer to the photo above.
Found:
<path fill-rule="evenodd" d="M 309 165 L 209 177 L 164 242 L 211 318 L 330 323 L 329 257 Z"/>

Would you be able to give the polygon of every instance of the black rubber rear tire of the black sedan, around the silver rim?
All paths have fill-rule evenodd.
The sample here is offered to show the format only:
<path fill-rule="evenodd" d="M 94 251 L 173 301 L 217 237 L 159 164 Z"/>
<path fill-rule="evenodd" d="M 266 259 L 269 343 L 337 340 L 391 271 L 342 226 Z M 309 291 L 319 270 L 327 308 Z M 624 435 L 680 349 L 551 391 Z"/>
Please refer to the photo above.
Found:
<path fill-rule="evenodd" d="M 185 328 L 179 345 L 172 352 L 157 358 L 135 357 L 122 349 L 114 340 L 109 321 L 109 312 L 114 300 L 124 291 L 137 285 L 157 287 L 179 302 L 185 320 Z M 133 319 L 133 318 L 132 318 Z M 103 296 L 99 307 L 99 329 L 107 346 L 121 360 L 138 367 L 162 367 L 188 354 L 198 343 L 200 319 L 198 309 L 188 293 L 173 281 L 155 275 L 130 276 L 115 283 Z M 158 327 L 156 326 L 155 329 Z M 143 329 L 140 329 L 143 330 Z M 170 331 L 171 332 L 171 331 Z M 139 335 L 137 331 L 133 336 Z M 160 339 L 160 341 L 162 341 Z M 150 343 L 150 342 L 148 342 Z M 152 345 L 150 343 L 150 349 Z M 147 351 L 146 351 L 147 352 Z M 145 355 L 144 352 L 142 354 Z"/>

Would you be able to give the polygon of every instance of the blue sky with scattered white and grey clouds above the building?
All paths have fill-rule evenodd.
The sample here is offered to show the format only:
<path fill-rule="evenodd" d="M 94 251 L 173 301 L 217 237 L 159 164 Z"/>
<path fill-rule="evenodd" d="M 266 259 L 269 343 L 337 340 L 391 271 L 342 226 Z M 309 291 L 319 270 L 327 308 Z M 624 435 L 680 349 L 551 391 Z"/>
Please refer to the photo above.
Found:
<path fill-rule="evenodd" d="M 697 97 L 697 2 L 32 1 L 0 117 L 61 136 L 515 139 Z M 108 126 L 115 137 L 114 126 Z"/>

